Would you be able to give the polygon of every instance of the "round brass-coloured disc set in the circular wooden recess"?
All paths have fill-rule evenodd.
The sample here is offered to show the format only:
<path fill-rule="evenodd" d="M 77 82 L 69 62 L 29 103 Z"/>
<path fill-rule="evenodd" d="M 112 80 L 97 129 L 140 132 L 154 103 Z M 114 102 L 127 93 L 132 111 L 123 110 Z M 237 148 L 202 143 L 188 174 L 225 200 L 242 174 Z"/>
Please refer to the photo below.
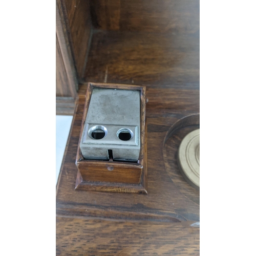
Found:
<path fill-rule="evenodd" d="M 181 141 L 178 150 L 178 165 L 184 179 L 200 189 L 200 129 L 190 132 Z"/>

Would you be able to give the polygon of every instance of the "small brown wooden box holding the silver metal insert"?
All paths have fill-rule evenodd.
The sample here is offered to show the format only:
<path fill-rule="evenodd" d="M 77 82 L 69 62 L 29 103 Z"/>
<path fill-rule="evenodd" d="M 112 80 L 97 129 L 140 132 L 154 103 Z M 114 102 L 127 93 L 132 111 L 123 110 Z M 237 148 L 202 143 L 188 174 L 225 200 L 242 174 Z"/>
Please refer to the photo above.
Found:
<path fill-rule="evenodd" d="M 80 150 L 84 123 L 86 122 L 93 88 L 125 89 L 140 91 L 140 155 L 138 162 L 118 162 L 108 160 L 86 160 Z M 144 86 L 132 86 L 113 83 L 89 83 L 82 118 L 79 143 L 77 146 L 76 166 L 78 168 L 75 189 L 111 191 L 121 193 L 147 194 L 146 168 L 146 125 Z"/>

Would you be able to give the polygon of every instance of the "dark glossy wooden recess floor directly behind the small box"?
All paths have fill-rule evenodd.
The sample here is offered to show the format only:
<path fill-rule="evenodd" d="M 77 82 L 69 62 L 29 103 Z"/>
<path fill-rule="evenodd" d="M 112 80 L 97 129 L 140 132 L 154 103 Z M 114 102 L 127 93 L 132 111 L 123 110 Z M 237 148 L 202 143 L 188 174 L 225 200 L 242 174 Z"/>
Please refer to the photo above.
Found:
<path fill-rule="evenodd" d="M 199 33 L 96 32 L 84 80 L 199 89 L 199 63 Z"/>

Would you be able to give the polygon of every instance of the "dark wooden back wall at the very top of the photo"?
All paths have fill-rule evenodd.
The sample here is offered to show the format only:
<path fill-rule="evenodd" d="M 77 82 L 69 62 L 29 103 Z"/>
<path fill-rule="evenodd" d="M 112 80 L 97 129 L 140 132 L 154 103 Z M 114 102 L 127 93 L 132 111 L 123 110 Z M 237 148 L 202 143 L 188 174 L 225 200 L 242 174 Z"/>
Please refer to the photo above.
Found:
<path fill-rule="evenodd" d="M 161 33 L 196 33 L 199 0 L 90 0 L 95 28 Z"/>

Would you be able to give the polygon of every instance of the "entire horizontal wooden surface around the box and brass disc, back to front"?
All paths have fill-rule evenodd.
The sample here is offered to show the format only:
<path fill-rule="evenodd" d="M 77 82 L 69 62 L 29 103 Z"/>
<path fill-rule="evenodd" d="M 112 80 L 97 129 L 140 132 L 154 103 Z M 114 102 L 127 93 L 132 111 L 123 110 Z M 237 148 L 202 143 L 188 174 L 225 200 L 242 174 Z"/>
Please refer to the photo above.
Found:
<path fill-rule="evenodd" d="M 199 191 L 176 160 L 200 124 L 199 33 L 96 32 L 84 81 L 57 183 L 57 254 L 199 254 Z M 146 86 L 148 195 L 74 190 L 89 81 Z"/>

